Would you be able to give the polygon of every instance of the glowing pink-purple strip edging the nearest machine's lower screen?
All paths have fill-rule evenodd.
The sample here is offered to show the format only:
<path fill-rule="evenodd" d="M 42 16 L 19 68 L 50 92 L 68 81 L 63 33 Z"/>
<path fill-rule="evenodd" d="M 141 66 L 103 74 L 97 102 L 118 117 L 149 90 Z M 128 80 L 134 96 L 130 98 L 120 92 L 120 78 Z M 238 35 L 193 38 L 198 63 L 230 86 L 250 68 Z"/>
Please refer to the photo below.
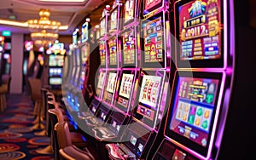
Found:
<path fill-rule="evenodd" d="M 214 117 L 214 123 L 213 123 L 213 126 L 212 126 L 212 134 L 211 134 L 211 138 L 210 138 L 209 148 L 207 150 L 207 157 L 202 156 L 200 153 L 198 153 L 196 151 L 193 151 L 192 149 L 190 149 L 187 146 L 183 146 L 182 144 L 180 144 L 176 140 L 172 140 L 171 138 L 169 138 L 169 137 L 167 137 L 165 135 L 166 139 L 168 139 L 169 141 L 171 141 L 175 145 L 183 148 L 183 150 L 189 151 L 191 154 L 195 155 L 195 157 L 199 157 L 201 159 L 209 159 L 211 157 L 213 140 L 214 140 L 214 137 L 215 137 L 215 134 L 216 134 L 216 130 L 217 130 L 220 106 L 221 106 L 222 97 L 223 97 L 223 94 L 224 94 L 224 83 L 226 81 L 226 73 L 225 73 L 225 71 L 212 71 L 212 72 L 222 72 L 223 73 L 223 78 L 222 78 L 222 81 L 221 81 L 221 84 L 220 84 L 220 90 L 219 90 L 219 96 L 218 96 L 218 104 L 217 104 L 216 114 L 215 114 L 215 117 Z"/>

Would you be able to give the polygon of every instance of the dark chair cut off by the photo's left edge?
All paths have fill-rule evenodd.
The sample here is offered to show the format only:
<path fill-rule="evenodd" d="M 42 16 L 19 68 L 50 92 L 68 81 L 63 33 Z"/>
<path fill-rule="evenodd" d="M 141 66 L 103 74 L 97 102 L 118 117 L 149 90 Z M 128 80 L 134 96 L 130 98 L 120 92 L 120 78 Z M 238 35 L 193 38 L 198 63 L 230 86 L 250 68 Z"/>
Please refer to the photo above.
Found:
<path fill-rule="evenodd" d="M 6 94 L 9 94 L 9 86 L 11 82 L 11 76 L 5 74 L 2 76 L 2 85 L 0 86 L 0 111 L 6 109 Z"/>

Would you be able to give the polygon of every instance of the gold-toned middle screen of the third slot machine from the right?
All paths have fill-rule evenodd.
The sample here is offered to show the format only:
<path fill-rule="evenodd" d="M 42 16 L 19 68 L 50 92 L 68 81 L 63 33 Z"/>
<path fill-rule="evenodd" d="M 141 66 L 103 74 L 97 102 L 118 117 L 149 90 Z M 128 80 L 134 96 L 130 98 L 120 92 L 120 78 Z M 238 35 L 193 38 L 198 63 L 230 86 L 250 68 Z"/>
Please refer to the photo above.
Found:
<path fill-rule="evenodd" d="M 136 56 L 135 56 L 135 35 L 134 31 L 125 31 L 122 35 L 123 39 L 123 64 L 124 66 L 135 66 Z"/>

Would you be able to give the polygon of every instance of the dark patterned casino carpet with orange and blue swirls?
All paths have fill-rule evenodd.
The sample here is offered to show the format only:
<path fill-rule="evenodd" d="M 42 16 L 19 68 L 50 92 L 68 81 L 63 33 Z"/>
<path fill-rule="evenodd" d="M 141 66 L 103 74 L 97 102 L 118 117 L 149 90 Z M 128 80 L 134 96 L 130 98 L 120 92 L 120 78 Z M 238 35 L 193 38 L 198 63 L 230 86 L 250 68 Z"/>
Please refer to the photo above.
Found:
<path fill-rule="evenodd" d="M 49 145 L 49 137 L 37 136 L 32 130 L 33 105 L 29 95 L 8 94 L 7 109 L 0 112 L 0 159 L 54 159 L 53 154 L 38 154 Z"/>

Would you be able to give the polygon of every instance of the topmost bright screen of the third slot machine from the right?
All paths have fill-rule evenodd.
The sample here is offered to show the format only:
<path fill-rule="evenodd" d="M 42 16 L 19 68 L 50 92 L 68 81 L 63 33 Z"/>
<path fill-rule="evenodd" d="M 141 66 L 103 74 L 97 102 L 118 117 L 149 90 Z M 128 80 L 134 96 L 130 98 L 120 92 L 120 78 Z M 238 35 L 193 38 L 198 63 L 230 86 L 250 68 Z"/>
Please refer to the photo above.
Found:
<path fill-rule="evenodd" d="M 124 23 L 125 25 L 135 18 L 135 0 L 126 0 L 124 8 Z"/>

